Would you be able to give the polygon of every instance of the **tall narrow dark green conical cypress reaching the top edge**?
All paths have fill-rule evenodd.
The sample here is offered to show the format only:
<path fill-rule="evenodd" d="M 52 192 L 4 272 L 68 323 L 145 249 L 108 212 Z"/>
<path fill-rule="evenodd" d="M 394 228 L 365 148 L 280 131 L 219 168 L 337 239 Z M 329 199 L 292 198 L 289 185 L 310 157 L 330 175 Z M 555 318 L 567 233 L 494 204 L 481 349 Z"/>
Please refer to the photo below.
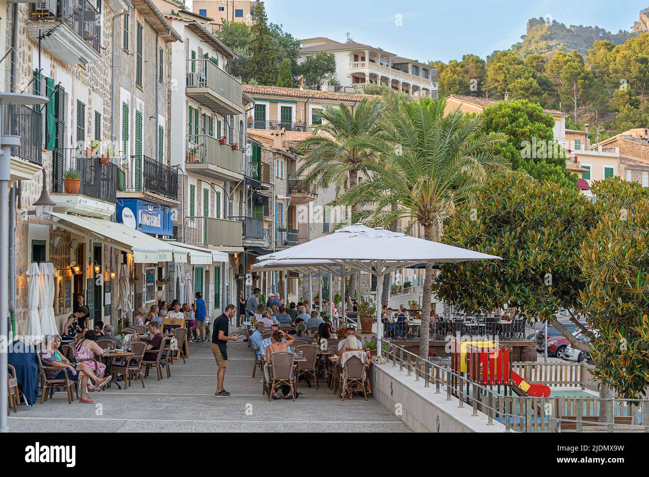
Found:
<path fill-rule="evenodd" d="M 260 84 L 275 84 L 279 69 L 278 56 L 263 1 L 257 2 L 254 7 L 254 18 L 249 45 L 248 77 Z"/>

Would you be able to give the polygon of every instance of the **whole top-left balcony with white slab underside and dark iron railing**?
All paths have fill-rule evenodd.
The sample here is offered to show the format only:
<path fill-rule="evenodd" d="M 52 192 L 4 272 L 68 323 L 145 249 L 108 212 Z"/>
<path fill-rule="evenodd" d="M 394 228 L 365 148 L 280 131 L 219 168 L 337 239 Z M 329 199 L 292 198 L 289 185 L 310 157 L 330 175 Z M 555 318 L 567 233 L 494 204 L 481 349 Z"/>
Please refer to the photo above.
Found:
<path fill-rule="evenodd" d="M 27 32 L 66 64 L 88 64 L 100 58 L 101 12 L 88 0 L 32 3 Z"/>

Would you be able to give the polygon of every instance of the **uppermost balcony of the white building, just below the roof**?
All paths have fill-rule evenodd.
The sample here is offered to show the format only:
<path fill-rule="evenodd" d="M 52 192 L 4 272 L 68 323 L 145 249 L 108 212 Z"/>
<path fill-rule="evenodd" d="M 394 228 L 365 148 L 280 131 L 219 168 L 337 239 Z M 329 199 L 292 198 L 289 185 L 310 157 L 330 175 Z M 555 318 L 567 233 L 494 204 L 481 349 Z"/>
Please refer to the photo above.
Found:
<path fill-rule="evenodd" d="M 186 95 L 219 114 L 243 114 L 241 82 L 207 58 L 187 60 Z"/>

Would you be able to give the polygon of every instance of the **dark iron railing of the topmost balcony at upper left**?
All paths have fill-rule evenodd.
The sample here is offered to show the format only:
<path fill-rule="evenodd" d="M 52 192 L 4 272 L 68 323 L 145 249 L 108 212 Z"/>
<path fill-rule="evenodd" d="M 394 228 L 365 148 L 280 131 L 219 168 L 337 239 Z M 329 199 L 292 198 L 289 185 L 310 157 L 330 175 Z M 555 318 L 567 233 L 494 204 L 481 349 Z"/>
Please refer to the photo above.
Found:
<path fill-rule="evenodd" d="M 31 5 L 30 17 L 32 20 L 59 19 L 62 24 L 70 27 L 84 42 L 88 43 L 93 50 L 101 53 L 101 14 L 90 1 L 45 0 Z"/>

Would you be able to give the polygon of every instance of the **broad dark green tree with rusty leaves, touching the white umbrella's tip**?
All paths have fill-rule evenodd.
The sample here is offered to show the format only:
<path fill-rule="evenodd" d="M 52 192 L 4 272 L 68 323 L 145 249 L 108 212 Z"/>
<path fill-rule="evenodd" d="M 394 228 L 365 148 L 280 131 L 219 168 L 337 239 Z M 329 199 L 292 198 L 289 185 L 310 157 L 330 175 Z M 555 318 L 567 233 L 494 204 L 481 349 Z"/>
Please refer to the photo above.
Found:
<path fill-rule="evenodd" d="M 576 188 L 524 172 L 489 179 L 475 202 L 457 208 L 442 239 L 502 260 L 445 264 L 433 290 L 467 312 L 517 306 L 526 320 L 547 321 L 588 351 L 555 316 L 566 308 L 581 326 L 580 244 L 593 223 L 592 208 Z"/>

